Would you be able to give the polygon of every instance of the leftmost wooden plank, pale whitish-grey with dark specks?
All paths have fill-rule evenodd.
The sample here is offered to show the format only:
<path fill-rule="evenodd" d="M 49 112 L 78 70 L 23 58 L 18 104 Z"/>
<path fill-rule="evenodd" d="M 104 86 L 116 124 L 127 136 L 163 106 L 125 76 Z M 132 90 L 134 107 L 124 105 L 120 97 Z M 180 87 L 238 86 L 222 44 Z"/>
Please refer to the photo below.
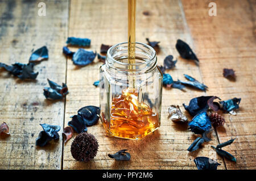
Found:
<path fill-rule="evenodd" d="M 11 136 L 0 139 L 0 169 L 60 169 L 62 138 L 44 148 L 35 146 L 40 123 L 63 128 L 64 100 L 44 98 L 47 78 L 65 82 L 68 1 L 43 1 L 46 16 L 38 15 L 41 1 L 0 1 L 0 60 L 27 63 L 32 50 L 46 45 L 49 60 L 35 66 L 36 81 L 21 81 L 0 71 L 0 120 Z"/>

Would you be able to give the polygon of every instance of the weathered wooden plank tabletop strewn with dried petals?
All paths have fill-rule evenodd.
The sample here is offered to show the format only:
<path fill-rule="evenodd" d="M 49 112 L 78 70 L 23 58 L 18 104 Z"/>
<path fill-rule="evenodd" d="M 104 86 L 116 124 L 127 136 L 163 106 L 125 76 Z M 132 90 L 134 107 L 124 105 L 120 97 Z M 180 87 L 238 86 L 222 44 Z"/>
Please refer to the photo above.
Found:
<path fill-rule="evenodd" d="M 214 1 L 217 16 L 209 16 L 211 1 L 207 0 L 139 0 L 137 41 L 146 43 L 146 37 L 161 41 L 158 64 L 162 65 L 164 57 L 172 54 L 178 60 L 176 68 L 168 71 L 174 79 L 184 79 L 186 73 L 209 89 L 163 89 L 161 126 L 141 141 L 108 137 L 101 123 L 89 127 L 88 132 L 96 136 L 100 147 L 88 163 L 72 158 L 72 140 L 63 144 L 60 136 L 43 148 L 35 146 L 35 140 L 42 131 L 40 123 L 60 125 L 62 131 L 79 108 L 99 105 L 99 89 L 93 82 L 99 78 L 102 63 L 96 59 L 93 64 L 77 68 L 63 55 L 62 47 L 70 36 L 90 38 L 88 49 L 97 52 L 102 43 L 127 41 L 127 1 L 44 0 L 46 16 L 38 15 L 39 2 L 0 1 L 1 62 L 27 63 L 33 50 L 43 45 L 49 49 L 49 59 L 35 66 L 39 71 L 36 81 L 20 81 L 0 71 L 0 121 L 9 125 L 11 133 L 0 140 L 0 169 L 196 169 L 193 158 L 198 156 L 217 160 L 221 163 L 218 169 L 256 169 L 255 1 Z M 175 49 L 177 39 L 193 48 L 199 66 L 179 56 Z M 223 77 L 223 68 L 236 70 L 236 82 Z M 69 94 L 65 100 L 44 98 L 47 78 L 67 83 Z M 167 108 L 171 104 L 188 104 L 201 95 L 242 100 L 237 116 L 224 114 L 226 123 L 212 133 L 212 141 L 189 153 L 187 148 L 195 136 L 187 126 L 168 121 Z M 188 116 L 182 106 L 181 111 Z M 237 158 L 237 163 L 223 159 L 210 148 L 234 137 L 236 141 L 225 150 Z M 131 153 L 129 162 L 108 157 L 108 153 L 121 149 Z"/>

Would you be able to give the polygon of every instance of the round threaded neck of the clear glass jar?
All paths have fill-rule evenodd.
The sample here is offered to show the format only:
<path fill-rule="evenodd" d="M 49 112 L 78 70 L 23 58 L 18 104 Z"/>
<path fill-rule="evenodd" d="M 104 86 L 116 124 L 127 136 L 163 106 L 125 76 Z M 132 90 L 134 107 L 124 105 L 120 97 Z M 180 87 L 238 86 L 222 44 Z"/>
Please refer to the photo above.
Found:
<path fill-rule="evenodd" d="M 154 70 L 156 65 L 155 50 L 143 43 L 135 43 L 135 64 L 128 62 L 127 42 L 113 45 L 106 56 L 106 68 L 109 71 L 129 71 L 129 73 L 140 74 Z"/>

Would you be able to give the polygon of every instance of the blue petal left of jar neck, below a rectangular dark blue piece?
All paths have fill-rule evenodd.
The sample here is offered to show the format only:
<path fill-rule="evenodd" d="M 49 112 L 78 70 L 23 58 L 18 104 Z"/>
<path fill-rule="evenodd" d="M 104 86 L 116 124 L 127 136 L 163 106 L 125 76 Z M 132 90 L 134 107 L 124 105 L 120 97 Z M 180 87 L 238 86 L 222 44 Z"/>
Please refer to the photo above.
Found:
<path fill-rule="evenodd" d="M 96 57 L 96 52 L 87 51 L 82 48 L 78 49 L 75 54 L 73 54 L 72 61 L 73 64 L 79 66 L 85 66 L 93 62 L 94 58 Z"/>

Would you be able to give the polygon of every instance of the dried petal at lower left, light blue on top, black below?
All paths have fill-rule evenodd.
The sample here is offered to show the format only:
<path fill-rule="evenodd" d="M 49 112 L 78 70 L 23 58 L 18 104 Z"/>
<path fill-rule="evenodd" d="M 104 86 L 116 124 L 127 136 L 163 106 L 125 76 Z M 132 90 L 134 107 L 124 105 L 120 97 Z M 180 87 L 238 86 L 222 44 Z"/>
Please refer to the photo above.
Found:
<path fill-rule="evenodd" d="M 60 126 L 59 125 L 49 125 L 40 124 L 44 131 L 39 133 L 38 138 L 36 138 L 36 146 L 45 146 L 51 140 L 59 139 Z"/>

